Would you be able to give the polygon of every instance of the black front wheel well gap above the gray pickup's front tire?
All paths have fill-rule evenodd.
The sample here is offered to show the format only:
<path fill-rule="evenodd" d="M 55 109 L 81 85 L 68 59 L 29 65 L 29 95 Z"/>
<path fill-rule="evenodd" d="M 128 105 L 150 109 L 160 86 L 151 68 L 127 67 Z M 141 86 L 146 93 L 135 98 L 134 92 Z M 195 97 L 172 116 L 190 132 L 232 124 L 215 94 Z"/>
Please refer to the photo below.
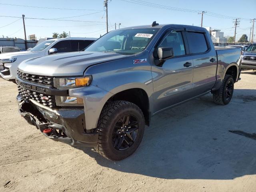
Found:
<path fill-rule="evenodd" d="M 149 126 L 150 112 L 147 93 L 140 88 L 124 90 L 112 96 L 108 101 L 124 100 L 136 104 L 143 112 L 145 123 Z"/>

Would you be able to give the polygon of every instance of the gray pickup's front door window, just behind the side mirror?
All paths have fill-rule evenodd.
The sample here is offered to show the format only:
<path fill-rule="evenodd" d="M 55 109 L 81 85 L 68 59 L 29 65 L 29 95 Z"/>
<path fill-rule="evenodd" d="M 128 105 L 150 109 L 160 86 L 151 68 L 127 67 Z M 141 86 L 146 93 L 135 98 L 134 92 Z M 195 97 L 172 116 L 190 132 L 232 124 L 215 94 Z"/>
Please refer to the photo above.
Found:
<path fill-rule="evenodd" d="M 173 48 L 174 56 L 185 55 L 185 46 L 181 32 L 169 33 L 158 47 Z"/>

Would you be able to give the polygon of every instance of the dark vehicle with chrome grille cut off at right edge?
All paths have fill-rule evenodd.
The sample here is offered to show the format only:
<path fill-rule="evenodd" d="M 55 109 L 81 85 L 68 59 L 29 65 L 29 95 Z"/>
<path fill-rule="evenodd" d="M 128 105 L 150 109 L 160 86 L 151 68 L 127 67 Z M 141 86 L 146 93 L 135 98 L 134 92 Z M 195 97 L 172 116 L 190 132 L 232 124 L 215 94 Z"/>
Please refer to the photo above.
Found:
<path fill-rule="evenodd" d="M 250 44 L 242 53 L 242 69 L 256 70 L 256 43 Z"/>

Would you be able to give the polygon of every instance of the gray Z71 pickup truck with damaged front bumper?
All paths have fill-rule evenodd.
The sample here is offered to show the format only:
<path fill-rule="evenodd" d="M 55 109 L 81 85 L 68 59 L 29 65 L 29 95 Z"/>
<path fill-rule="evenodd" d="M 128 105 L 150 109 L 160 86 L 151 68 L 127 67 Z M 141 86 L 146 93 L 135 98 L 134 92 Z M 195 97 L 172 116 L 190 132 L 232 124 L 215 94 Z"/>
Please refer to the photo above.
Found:
<path fill-rule="evenodd" d="M 240 49 L 215 50 L 206 29 L 153 22 L 111 31 L 82 52 L 22 62 L 17 101 L 48 138 L 122 160 L 153 115 L 210 92 L 228 104 L 239 68 Z"/>

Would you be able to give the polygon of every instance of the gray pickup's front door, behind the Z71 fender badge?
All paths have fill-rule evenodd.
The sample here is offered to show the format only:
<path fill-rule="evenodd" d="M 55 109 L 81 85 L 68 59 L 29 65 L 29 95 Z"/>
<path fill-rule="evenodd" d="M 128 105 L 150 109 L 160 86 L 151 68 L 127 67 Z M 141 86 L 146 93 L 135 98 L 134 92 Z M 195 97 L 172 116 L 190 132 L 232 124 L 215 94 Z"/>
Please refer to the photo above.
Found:
<path fill-rule="evenodd" d="M 159 65 L 155 54 L 159 47 L 173 48 L 174 57 Z M 184 29 L 167 32 L 156 46 L 155 66 L 152 65 L 154 113 L 190 98 L 193 88 L 193 60 L 186 49 Z"/>

